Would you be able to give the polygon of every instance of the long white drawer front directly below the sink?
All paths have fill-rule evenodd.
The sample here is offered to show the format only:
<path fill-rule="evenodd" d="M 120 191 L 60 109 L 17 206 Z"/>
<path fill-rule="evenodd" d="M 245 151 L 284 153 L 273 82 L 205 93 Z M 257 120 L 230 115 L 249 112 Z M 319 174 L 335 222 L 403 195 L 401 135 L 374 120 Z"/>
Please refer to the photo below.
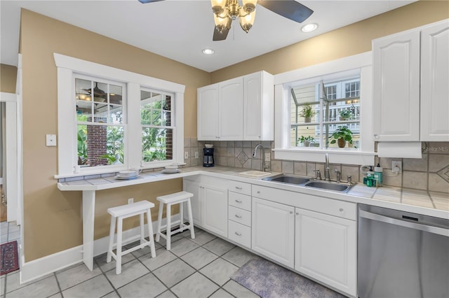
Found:
<path fill-rule="evenodd" d="M 275 201 L 277 203 L 295 206 L 298 208 L 334 215 L 348 220 L 357 220 L 357 204 L 338 199 L 290 192 L 272 187 L 253 185 L 253 197 Z"/>

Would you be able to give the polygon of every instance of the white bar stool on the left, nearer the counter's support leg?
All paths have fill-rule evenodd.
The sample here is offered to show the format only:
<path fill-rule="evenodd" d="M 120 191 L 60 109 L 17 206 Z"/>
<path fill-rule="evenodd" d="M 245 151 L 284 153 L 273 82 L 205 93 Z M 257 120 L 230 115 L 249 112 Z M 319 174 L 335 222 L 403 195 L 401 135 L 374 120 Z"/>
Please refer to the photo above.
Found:
<path fill-rule="evenodd" d="M 154 238 L 153 238 L 153 224 L 152 224 L 152 213 L 150 208 L 154 207 L 154 204 L 149 201 L 138 201 L 133 204 L 117 206 L 107 209 L 107 213 L 111 215 L 111 226 L 109 229 L 109 248 L 107 249 L 106 262 L 111 262 L 112 257 L 116 260 L 116 274 L 121 274 L 121 257 L 127 253 L 132 253 L 134 250 L 139 248 L 144 248 L 149 246 L 151 249 L 152 257 L 156 257 L 156 250 L 154 249 Z M 147 225 L 148 225 L 148 236 L 149 241 L 145 239 L 144 230 L 144 214 L 147 213 Z M 128 239 L 122 240 L 122 224 L 123 218 L 130 218 L 131 216 L 140 215 L 140 235 L 130 237 Z M 114 232 L 115 232 L 115 222 L 117 220 L 117 241 L 114 243 Z M 128 250 L 121 251 L 121 246 L 123 242 L 133 241 L 135 239 L 140 239 L 140 245 L 129 248 Z M 116 248 L 116 253 L 114 254 L 112 250 Z"/>

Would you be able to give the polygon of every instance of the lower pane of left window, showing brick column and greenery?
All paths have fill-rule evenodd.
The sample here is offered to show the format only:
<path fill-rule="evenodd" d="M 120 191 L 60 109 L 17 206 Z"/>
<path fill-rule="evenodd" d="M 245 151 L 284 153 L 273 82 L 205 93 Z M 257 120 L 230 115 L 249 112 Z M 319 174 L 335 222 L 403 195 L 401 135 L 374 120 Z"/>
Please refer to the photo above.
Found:
<path fill-rule="evenodd" d="M 77 131 L 79 165 L 123 163 L 123 127 L 78 125 Z"/>

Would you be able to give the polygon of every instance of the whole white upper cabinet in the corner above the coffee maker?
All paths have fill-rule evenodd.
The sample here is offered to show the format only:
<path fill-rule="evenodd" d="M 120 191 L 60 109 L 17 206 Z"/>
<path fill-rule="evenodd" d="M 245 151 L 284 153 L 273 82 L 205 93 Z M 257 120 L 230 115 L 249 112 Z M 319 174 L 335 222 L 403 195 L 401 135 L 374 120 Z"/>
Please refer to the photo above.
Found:
<path fill-rule="evenodd" d="M 198 139 L 274 140 L 273 76 L 259 71 L 199 88 Z"/>

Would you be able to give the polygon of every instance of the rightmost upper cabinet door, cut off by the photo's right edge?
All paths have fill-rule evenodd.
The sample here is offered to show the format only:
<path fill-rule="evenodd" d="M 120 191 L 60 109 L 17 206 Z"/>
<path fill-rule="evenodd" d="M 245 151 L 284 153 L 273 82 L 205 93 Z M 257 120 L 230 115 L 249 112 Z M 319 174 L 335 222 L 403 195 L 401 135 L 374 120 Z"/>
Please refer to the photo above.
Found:
<path fill-rule="evenodd" d="M 449 141 L 449 22 L 421 32 L 421 141 Z"/>

